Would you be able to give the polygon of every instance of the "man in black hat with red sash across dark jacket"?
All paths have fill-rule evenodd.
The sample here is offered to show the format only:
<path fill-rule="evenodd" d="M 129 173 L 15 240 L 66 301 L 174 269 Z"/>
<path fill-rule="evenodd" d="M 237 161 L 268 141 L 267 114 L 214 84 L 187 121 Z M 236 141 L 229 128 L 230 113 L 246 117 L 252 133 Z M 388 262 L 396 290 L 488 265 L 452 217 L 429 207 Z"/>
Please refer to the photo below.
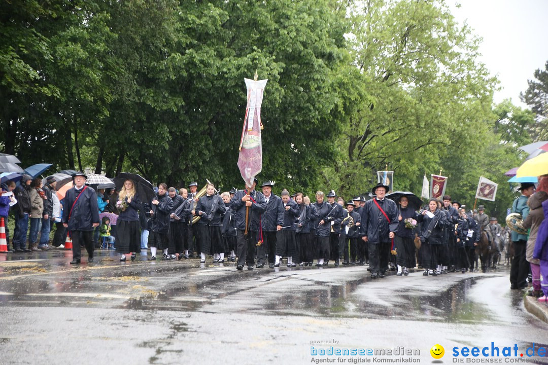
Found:
<path fill-rule="evenodd" d="M 378 183 L 372 189 L 376 196 L 368 200 L 362 210 L 362 240 L 368 242 L 369 267 L 372 279 L 384 277 L 394 231 L 398 225 L 398 208 L 393 200 L 385 198 L 389 187 Z"/>

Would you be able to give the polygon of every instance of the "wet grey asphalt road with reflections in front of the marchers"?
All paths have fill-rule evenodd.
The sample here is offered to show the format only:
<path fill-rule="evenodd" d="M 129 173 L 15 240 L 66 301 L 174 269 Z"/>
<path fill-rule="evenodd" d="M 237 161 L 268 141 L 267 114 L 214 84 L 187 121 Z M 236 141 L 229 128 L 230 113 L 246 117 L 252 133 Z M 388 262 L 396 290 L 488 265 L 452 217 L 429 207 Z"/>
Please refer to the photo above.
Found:
<path fill-rule="evenodd" d="M 320 358 L 311 346 L 403 346 L 432 363 L 435 344 L 452 363 L 454 346 L 548 347 L 548 325 L 524 310 L 504 267 L 371 280 L 366 266 L 239 272 L 210 259 L 96 257 L 73 267 L 70 251 L 0 254 L 0 364 L 300 364 Z"/>

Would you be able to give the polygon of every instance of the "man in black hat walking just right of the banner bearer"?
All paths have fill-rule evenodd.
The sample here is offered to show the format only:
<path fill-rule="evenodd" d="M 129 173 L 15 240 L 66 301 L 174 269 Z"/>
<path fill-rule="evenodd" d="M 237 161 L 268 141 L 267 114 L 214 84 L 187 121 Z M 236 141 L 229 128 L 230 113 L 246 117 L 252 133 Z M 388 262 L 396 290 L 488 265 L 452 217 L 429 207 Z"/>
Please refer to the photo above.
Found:
<path fill-rule="evenodd" d="M 264 267 L 265 254 L 269 253 L 269 266 L 274 267 L 276 260 L 276 241 L 278 231 L 283 227 L 284 208 L 282 199 L 272 194 L 272 188 L 275 182 L 265 181 L 261 185 L 262 195 L 265 196 L 266 211 L 262 214 L 262 237 L 264 242 L 257 247 L 257 265 L 258 269 Z"/>

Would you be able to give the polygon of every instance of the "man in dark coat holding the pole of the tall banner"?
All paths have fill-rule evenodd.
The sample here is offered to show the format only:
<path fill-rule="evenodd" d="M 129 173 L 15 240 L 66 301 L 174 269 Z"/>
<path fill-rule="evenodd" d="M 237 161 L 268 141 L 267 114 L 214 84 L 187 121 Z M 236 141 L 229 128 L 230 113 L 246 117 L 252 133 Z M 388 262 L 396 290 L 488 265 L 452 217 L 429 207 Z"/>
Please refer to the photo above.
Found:
<path fill-rule="evenodd" d="M 236 239 L 238 265 L 236 269 L 243 270 L 244 263 L 248 270 L 253 270 L 255 264 L 255 244 L 257 243 L 257 233 L 259 231 L 259 215 L 266 211 L 265 197 L 255 191 L 257 179 L 255 178 L 252 186 L 245 190 L 238 190 L 230 201 L 230 207 L 236 219 Z M 246 237 L 246 208 L 249 208 L 248 217 L 248 236 Z M 247 239 L 247 241 L 246 241 Z"/>

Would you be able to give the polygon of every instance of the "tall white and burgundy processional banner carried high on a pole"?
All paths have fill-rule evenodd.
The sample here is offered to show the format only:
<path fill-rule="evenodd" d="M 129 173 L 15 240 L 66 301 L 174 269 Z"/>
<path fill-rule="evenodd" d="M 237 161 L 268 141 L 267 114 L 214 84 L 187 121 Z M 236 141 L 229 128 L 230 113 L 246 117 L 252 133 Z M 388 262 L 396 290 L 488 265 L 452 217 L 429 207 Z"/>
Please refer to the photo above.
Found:
<path fill-rule="evenodd" d="M 246 186 L 250 187 L 262 170 L 261 104 L 268 80 L 244 80 L 247 86 L 247 108 L 239 146 L 238 168 Z"/>

